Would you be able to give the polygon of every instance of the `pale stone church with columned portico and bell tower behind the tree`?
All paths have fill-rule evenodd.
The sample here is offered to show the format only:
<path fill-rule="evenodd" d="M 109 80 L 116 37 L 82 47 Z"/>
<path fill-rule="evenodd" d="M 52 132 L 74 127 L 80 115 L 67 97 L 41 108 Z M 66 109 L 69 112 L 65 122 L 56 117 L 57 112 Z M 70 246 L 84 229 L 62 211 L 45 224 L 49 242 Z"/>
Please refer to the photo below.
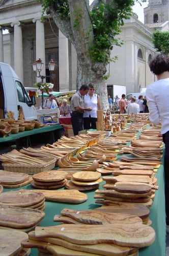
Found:
<path fill-rule="evenodd" d="M 144 10 L 146 25 L 139 22 L 136 14 L 125 20 L 118 36 L 124 45 L 115 46 L 111 52 L 119 59 L 107 67 L 110 73 L 107 84 L 126 86 L 130 93 L 139 92 L 154 81 L 148 66 L 156 54 L 150 24 L 157 29 L 159 25 L 161 30 L 167 29 L 167 12 L 168 0 L 149 0 L 149 6 Z M 55 71 L 46 81 L 54 83 L 54 91 L 76 90 L 75 49 L 49 15 L 45 15 L 45 22 L 41 22 L 41 13 L 41 4 L 34 0 L 0 0 L 0 61 L 14 68 L 24 86 L 32 87 L 36 82 L 32 63 L 41 58 L 45 63 L 41 75 L 49 75 L 48 62 L 53 59 Z M 3 35 L 3 29 L 10 33 Z"/>

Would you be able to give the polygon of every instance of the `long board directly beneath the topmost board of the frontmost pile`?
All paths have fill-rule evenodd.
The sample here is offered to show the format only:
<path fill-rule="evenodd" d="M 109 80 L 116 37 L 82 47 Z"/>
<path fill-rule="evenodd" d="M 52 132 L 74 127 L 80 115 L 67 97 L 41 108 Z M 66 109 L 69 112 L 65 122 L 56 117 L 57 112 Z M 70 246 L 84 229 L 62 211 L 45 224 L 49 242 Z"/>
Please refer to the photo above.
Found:
<path fill-rule="evenodd" d="M 51 244 L 61 245 L 63 247 L 74 249 L 82 252 L 97 253 L 97 255 L 104 256 L 124 256 L 131 255 L 131 253 L 137 252 L 136 247 L 120 246 L 112 243 L 100 243 L 93 245 L 76 245 L 71 242 L 65 241 L 60 238 L 36 238 L 35 231 L 29 233 L 31 240 L 40 240 Z"/>

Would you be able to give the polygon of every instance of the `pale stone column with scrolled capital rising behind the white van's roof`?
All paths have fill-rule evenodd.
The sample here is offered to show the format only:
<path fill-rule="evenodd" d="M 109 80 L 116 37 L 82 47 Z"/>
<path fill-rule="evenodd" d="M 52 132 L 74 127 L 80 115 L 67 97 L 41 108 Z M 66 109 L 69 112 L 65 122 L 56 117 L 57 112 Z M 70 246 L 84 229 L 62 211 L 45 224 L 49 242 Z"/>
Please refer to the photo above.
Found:
<path fill-rule="evenodd" d="M 14 70 L 23 82 L 23 50 L 22 50 L 22 28 L 20 22 L 11 23 L 14 27 Z"/>

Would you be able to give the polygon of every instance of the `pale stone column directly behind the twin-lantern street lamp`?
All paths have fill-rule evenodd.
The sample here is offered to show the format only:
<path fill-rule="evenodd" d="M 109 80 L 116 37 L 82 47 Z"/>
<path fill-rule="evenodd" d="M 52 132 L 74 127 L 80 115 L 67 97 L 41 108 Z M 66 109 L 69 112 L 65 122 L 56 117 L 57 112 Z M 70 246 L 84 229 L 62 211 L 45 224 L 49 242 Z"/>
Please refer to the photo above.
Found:
<path fill-rule="evenodd" d="M 41 17 L 34 18 L 33 23 L 36 23 L 36 60 L 39 58 L 44 63 L 43 69 L 41 71 L 41 75 L 45 76 L 45 31 L 44 31 L 44 23 L 41 22 Z M 37 78 L 37 82 L 41 81 L 40 78 Z M 44 79 L 45 82 L 45 79 Z"/>

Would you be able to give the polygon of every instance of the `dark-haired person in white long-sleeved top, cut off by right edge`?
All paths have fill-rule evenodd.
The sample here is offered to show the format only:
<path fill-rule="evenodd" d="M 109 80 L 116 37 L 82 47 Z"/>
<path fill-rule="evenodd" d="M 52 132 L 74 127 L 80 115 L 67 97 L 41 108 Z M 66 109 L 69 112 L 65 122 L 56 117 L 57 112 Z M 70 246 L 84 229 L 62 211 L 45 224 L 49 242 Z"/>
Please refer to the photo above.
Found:
<path fill-rule="evenodd" d="M 169 232 L 169 57 L 159 54 L 149 64 L 157 81 L 146 90 L 149 118 L 154 124 L 161 120 L 161 134 L 165 143 L 164 174 L 165 174 L 165 212 L 166 232 Z M 160 136 L 160 135 L 159 135 Z"/>

